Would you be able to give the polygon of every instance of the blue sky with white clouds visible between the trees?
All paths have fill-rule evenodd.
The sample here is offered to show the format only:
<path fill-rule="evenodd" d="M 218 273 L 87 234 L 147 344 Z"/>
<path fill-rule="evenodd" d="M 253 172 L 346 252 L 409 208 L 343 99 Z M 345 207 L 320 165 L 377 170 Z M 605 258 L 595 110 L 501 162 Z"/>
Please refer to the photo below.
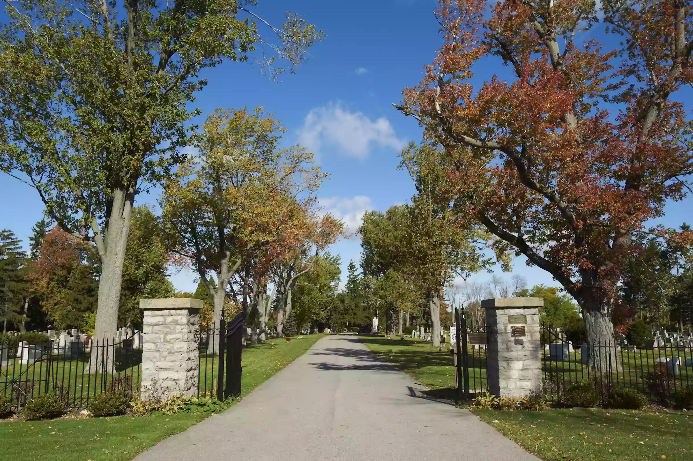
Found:
<path fill-rule="evenodd" d="M 397 153 L 405 143 L 419 141 L 421 130 L 392 103 L 401 101 L 403 88 L 420 80 L 423 65 L 432 61 L 440 45 L 436 5 L 435 0 L 261 0 L 254 11 L 264 19 L 281 24 L 286 10 L 299 12 L 322 29 L 326 39 L 310 51 L 295 75 L 282 76 L 281 83 L 247 63 L 229 62 L 205 71 L 202 76 L 209 84 L 192 107 L 202 110 L 200 121 L 216 107 L 261 105 L 276 114 L 288 129 L 286 143 L 303 143 L 331 173 L 319 193 L 324 207 L 355 230 L 367 209 L 384 211 L 414 193 L 407 173 L 396 170 Z M 483 65 L 475 80 L 490 78 L 493 70 Z M 155 203 L 157 193 L 139 196 L 137 204 Z M 44 208 L 37 193 L 0 173 L 0 197 L 0 228 L 12 229 L 26 245 Z M 690 200 L 669 205 L 662 222 L 678 226 L 690 211 Z M 332 252 L 342 256 L 345 273 L 349 259 L 360 258 L 360 242 L 340 241 Z M 514 273 L 525 275 L 530 286 L 556 285 L 546 272 L 527 268 L 523 259 L 514 263 Z M 484 273 L 473 280 L 490 277 Z M 194 279 L 190 272 L 172 276 L 179 290 L 194 289 Z"/>

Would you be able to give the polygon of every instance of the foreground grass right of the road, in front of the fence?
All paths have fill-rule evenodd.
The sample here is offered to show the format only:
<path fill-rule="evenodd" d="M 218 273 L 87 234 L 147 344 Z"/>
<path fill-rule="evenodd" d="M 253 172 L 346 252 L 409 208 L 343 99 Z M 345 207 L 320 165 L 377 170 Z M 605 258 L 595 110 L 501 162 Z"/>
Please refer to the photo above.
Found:
<path fill-rule="evenodd" d="M 693 417 L 653 411 L 473 412 L 544 460 L 691 460 Z"/>

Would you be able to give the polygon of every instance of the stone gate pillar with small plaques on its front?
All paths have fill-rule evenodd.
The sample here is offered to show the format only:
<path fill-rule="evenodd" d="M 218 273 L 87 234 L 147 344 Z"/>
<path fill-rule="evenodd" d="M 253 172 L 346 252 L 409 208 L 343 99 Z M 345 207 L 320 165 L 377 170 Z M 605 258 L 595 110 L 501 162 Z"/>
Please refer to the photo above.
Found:
<path fill-rule="evenodd" d="M 541 297 L 484 299 L 489 343 L 486 380 L 498 397 L 526 397 L 541 386 Z"/>

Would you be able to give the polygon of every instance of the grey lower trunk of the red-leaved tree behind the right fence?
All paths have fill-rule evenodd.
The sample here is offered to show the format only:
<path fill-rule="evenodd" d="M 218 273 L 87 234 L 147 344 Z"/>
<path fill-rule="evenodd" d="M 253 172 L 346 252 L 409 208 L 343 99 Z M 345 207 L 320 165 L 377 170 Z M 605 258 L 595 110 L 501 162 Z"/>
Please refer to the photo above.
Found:
<path fill-rule="evenodd" d="M 596 374 L 611 375 L 619 368 L 611 309 L 606 304 L 597 303 L 581 304 L 581 307 L 590 349 L 590 368 Z"/>

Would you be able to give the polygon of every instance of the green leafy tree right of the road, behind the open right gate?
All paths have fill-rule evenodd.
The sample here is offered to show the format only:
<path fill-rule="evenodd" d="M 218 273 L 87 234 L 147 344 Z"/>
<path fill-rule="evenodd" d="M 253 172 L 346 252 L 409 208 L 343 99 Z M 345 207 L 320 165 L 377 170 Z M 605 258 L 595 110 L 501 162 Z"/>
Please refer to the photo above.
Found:
<path fill-rule="evenodd" d="M 433 344 L 439 345 L 444 286 L 455 275 L 466 276 L 488 263 L 480 251 L 485 245 L 484 235 L 456 225 L 455 216 L 432 198 L 439 195 L 444 181 L 432 158 L 439 155 L 437 151 L 410 146 L 403 155 L 418 194 L 412 198 L 412 205 L 364 217 L 360 227 L 362 268 L 374 277 L 388 270 L 400 273 L 410 290 L 428 304 Z"/>

